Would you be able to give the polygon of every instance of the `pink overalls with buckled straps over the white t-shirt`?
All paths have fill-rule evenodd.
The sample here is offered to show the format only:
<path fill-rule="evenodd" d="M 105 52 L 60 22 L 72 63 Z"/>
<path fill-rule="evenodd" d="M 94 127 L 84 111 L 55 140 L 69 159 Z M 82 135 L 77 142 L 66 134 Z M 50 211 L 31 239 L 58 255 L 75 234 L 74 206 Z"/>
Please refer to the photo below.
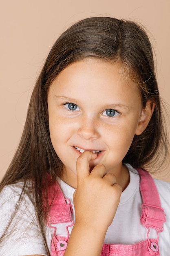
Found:
<path fill-rule="evenodd" d="M 141 177 L 140 191 L 143 200 L 140 220 L 141 224 L 148 229 L 147 238 L 133 245 L 104 244 L 101 256 L 160 256 L 158 233 L 163 231 L 163 222 L 166 221 L 165 214 L 161 208 L 159 195 L 152 177 L 144 170 L 138 169 L 138 172 Z M 54 191 L 56 193 L 52 201 Z M 51 256 L 63 256 L 69 239 L 67 228 L 73 226 L 71 220 L 72 205 L 70 200 L 64 198 L 57 182 L 55 188 L 54 186 L 49 187 L 48 195 L 49 204 L 52 204 L 47 226 L 54 229 L 51 241 Z M 68 223 L 66 226 L 67 237 L 56 235 L 56 228 L 53 224 L 62 222 Z M 157 231 L 157 239 L 149 238 L 150 228 Z"/>

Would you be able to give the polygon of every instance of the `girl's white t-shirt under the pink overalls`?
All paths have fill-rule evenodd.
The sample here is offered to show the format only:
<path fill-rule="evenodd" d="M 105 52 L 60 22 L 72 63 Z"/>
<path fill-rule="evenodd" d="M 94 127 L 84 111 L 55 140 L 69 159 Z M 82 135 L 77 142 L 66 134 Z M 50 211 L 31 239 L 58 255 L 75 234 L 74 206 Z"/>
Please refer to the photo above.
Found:
<path fill-rule="evenodd" d="M 108 227 L 104 243 L 133 244 L 146 240 L 147 229 L 140 223 L 141 215 L 141 194 L 139 190 L 140 178 L 137 171 L 127 165 L 130 171 L 130 183 L 121 194 L 121 200 L 113 223 Z M 170 183 L 155 180 L 161 207 L 166 213 L 166 222 L 163 225 L 163 232 L 159 233 L 159 251 L 161 256 L 170 255 Z M 62 180 L 58 180 L 65 198 L 70 199 L 73 204 L 73 193 L 75 189 Z M 22 182 L 7 186 L 0 195 L 0 236 L 6 227 L 11 213 L 22 190 Z M 15 217 L 16 223 L 11 236 L 0 245 L 0 255 L 21 256 L 21 255 L 47 255 L 40 234 L 38 224 L 35 220 L 31 195 L 24 195 L 24 201 Z M 34 220 L 34 221 L 33 221 Z M 72 220 L 75 221 L 74 206 Z M 33 222 L 33 224 L 31 224 Z M 57 224 L 57 235 L 66 236 L 66 223 Z M 71 232 L 72 227 L 68 228 Z M 50 249 L 53 229 L 46 227 L 46 238 Z M 151 230 L 150 238 L 156 238 L 155 230 Z"/>

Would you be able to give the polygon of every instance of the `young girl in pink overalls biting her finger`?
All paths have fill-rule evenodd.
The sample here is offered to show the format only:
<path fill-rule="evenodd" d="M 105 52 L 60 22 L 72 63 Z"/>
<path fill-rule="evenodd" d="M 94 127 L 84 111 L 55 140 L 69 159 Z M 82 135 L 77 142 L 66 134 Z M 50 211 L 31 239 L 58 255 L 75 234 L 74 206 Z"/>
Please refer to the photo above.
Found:
<path fill-rule="evenodd" d="M 168 256 L 170 184 L 141 170 L 167 156 L 146 32 L 77 22 L 46 59 L 1 182 L 0 255 Z"/>

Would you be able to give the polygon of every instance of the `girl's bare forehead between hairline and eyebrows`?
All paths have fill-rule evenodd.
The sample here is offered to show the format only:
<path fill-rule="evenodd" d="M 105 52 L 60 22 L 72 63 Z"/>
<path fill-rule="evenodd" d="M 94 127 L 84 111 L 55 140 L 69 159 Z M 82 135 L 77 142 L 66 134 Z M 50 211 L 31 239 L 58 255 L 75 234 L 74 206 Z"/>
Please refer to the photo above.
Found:
<path fill-rule="evenodd" d="M 85 59 L 67 66 L 50 86 L 50 92 L 70 96 L 89 94 L 89 100 L 108 100 L 110 97 L 140 97 L 133 82 L 120 64 L 99 59 Z"/>

